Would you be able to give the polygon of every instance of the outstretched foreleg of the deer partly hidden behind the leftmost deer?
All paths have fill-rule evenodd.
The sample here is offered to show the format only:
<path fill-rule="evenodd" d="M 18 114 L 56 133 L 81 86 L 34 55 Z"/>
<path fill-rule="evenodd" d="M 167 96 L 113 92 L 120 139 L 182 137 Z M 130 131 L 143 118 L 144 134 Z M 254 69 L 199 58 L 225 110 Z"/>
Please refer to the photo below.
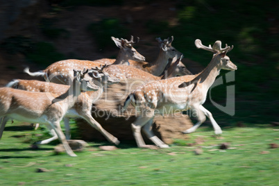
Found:
<path fill-rule="evenodd" d="M 103 127 L 101 126 L 101 124 L 98 123 L 98 121 L 96 121 L 92 115 L 90 115 L 89 113 L 85 114 L 85 115 L 81 115 L 81 117 L 83 117 L 83 119 L 85 119 L 93 128 L 95 128 L 96 130 L 98 130 L 109 142 L 112 142 L 113 144 L 119 144 L 119 140 L 117 140 L 116 137 L 114 137 L 113 135 L 111 135 L 110 133 L 108 133 L 108 131 L 106 131 L 105 129 L 103 129 Z"/>

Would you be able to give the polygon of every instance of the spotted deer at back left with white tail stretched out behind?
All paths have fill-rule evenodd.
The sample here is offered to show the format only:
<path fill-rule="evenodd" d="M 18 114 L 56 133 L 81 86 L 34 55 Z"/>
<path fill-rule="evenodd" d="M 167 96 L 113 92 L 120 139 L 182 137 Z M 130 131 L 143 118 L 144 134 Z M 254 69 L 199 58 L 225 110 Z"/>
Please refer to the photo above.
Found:
<path fill-rule="evenodd" d="M 128 65 L 128 60 L 139 60 L 144 61 L 145 58 L 140 53 L 138 53 L 133 45 L 139 42 L 140 38 L 137 37 L 137 42 L 133 41 L 133 36 L 131 36 L 130 41 L 124 40 L 121 38 L 112 37 L 112 40 L 115 42 L 117 47 L 120 48 L 119 54 L 113 65 Z M 52 83 L 59 83 L 68 85 L 69 82 L 73 81 L 73 69 L 83 70 L 91 69 L 92 67 L 100 66 L 105 63 L 105 61 L 110 61 L 110 59 L 101 59 L 96 61 L 90 60 L 61 60 L 54 62 L 52 65 L 49 65 L 47 69 L 37 72 L 30 72 L 28 68 L 24 71 L 30 76 L 43 76 L 46 81 Z M 110 64 L 110 62 L 108 62 Z"/>

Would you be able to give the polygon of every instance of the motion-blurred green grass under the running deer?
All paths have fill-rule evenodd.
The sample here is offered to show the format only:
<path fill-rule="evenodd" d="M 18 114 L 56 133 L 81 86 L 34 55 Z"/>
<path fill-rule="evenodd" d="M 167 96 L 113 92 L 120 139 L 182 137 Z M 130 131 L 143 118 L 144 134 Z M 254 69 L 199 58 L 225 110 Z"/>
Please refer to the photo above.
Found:
<path fill-rule="evenodd" d="M 12 124 L 20 127 L 22 124 Z M 211 127 L 198 128 L 188 141 L 175 140 L 169 149 L 138 149 L 122 142 L 116 151 L 100 151 L 90 146 L 78 157 L 54 155 L 53 145 L 29 149 L 34 130 L 6 126 L 1 140 L 0 185 L 278 185 L 278 128 L 254 125 L 247 128 L 223 128 L 214 137 Z M 248 125 L 248 124 L 247 124 Z M 194 155 L 202 140 L 203 153 Z M 229 142 L 230 148 L 217 145 Z M 48 172 L 36 173 L 37 168 Z"/>

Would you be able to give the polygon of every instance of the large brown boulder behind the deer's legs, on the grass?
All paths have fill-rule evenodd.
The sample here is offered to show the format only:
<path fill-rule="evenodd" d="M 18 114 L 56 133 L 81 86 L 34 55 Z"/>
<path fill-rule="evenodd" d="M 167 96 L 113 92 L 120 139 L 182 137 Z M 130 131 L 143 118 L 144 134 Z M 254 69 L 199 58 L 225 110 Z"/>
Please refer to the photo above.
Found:
<path fill-rule="evenodd" d="M 102 98 L 96 101 L 92 108 L 92 116 L 109 133 L 121 140 L 133 140 L 130 124 L 136 119 L 135 108 L 129 105 L 126 111 L 121 111 L 122 105 L 131 90 L 144 83 L 141 80 L 128 80 L 126 82 L 110 85 L 103 93 Z M 138 114 L 138 113 L 137 113 Z M 192 126 L 192 121 L 187 115 L 176 113 L 176 115 L 156 116 L 154 118 L 153 131 L 165 143 L 171 144 L 174 139 L 187 139 L 181 131 Z M 77 120 L 78 130 L 83 140 L 105 140 L 97 130 L 92 128 L 87 121 Z M 144 136 L 144 134 L 143 134 Z"/>

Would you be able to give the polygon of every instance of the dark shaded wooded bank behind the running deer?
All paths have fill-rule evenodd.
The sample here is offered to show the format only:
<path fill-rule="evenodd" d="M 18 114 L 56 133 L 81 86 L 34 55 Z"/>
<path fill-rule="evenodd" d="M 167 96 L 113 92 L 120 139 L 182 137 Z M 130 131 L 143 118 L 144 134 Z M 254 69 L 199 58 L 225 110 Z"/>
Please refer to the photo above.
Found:
<path fill-rule="evenodd" d="M 279 121 L 279 3 L 276 1 L 125 1 L 125 0 L 15 0 L 0 1 L 0 85 L 22 72 L 44 69 L 69 58 L 115 58 L 118 49 L 110 36 L 140 37 L 135 48 L 154 60 L 155 37 L 174 35 L 173 46 L 183 52 L 183 63 L 198 73 L 212 53 L 196 49 L 194 40 L 234 45 L 228 53 L 237 65 L 235 115 L 208 108 L 219 124 L 278 125 Z M 221 71 L 221 76 L 228 71 Z M 42 80 L 42 79 L 41 79 Z M 226 86 L 212 90 L 212 99 L 226 103 Z"/>

